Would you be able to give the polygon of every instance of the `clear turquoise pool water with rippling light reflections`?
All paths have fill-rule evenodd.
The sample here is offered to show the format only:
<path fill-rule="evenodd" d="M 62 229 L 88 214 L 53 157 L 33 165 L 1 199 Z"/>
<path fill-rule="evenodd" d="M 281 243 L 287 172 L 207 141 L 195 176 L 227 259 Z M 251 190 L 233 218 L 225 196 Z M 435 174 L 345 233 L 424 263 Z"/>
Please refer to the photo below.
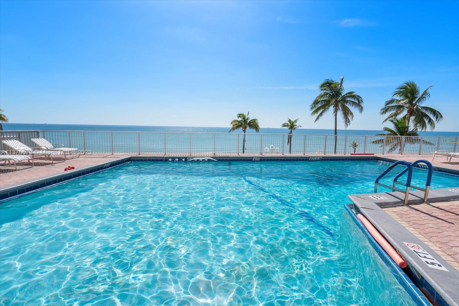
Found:
<path fill-rule="evenodd" d="M 1 303 L 414 305 L 343 213 L 386 167 L 136 162 L 4 202 Z"/>

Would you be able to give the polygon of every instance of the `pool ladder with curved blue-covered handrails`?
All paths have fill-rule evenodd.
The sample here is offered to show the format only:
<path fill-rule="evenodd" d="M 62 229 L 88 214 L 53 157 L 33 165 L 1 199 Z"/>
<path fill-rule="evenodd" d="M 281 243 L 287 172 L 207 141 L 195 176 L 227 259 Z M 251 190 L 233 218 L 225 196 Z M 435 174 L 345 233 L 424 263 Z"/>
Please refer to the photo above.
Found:
<path fill-rule="evenodd" d="M 412 186 L 411 185 L 411 178 L 413 177 L 413 167 L 416 166 L 419 163 L 424 163 L 427 166 L 427 170 L 428 170 L 428 172 L 427 172 L 427 180 L 425 182 L 425 188 L 421 188 L 421 187 L 417 187 L 417 186 Z M 395 167 L 397 165 L 402 165 L 402 166 L 405 166 L 406 168 L 403 169 L 402 172 L 398 173 L 395 176 L 395 178 L 393 180 L 393 183 L 392 183 L 392 187 L 388 186 L 388 185 L 385 185 L 385 184 L 381 184 L 379 182 L 379 180 L 382 177 L 384 177 L 388 172 L 390 172 L 393 167 Z M 398 179 L 403 174 L 405 174 L 406 172 L 408 172 L 408 176 L 406 178 L 406 182 L 405 183 L 399 182 Z M 378 178 L 376 178 L 376 180 L 375 180 L 375 193 L 378 192 L 378 186 L 386 187 L 388 189 L 392 189 L 393 191 L 403 192 L 405 194 L 405 198 L 403 199 L 403 204 L 406 205 L 408 203 L 409 189 L 410 188 L 414 188 L 414 189 L 418 189 L 418 190 L 424 191 L 423 201 L 427 202 L 427 197 L 429 196 L 429 188 L 430 188 L 430 184 L 431 184 L 431 180 L 432 180 L 432 173 L 433 173 L 432 164 L 429 161 L 426 161 L 424 159 L 420 159 L 420 160 L 414 161 L 411 164 L 408 161 L 396 161 L 390 167 L 388 167 L 386 169 L 386 171 L 382 172 L 381 175 Z M 397 184 L 405 186 L 405 190 L 398 189 L 397 188 Z"/>

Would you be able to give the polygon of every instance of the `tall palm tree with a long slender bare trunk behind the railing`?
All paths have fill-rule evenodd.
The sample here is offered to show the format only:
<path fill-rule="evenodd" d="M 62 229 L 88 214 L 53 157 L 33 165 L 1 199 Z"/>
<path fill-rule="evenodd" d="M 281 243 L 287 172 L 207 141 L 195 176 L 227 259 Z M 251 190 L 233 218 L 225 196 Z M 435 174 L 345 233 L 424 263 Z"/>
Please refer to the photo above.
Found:
<path fill-rule="evenodd" d="M 313 103 L 311 103 L 311 115 L 317 115 L 314 122 L 317 122 L 330 109 L 333 109 L 333 115 L 335 116 L 335 154 L 338 113 L 341 112 L 344 127 L 347 128 L 354 118 L 354 114 L 350 107 L 357 109 L 359 113 L 362 113 L 364 110 L 364 101 L 361 96 L 356 95 L 353 91 L 344 92 L 343 80 L 344 77 L 341 77 L 340 82 L 326 79 L 319 85 L 320 94 L 314 99 Z"/>

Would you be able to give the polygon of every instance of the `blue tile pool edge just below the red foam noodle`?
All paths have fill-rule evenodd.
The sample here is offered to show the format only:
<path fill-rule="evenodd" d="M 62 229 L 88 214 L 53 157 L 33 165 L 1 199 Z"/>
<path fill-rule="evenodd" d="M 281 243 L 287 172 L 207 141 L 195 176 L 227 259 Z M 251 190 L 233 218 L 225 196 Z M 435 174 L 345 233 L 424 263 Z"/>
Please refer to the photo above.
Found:
<path fill-rule="evenodd" d="M 395 261 L 387 255 L 386 251 L 379 245 L 379 243 L 371 236 L 367 228 L 365 228 L 364 223 L 362 223 L 357 214 L 351 208 L 352 204 L 344 205 L 344 210 L 351 216 L 354 223 L 357 224 L 358 228 L 364 233 L 365 237 L 369 244 L 373 247 L 375 252 L 379 255 L 381 260 L 386 264 L 386 267 L 391 271 L 392 275 L 397 279 L 398 283 L 405 289 L 411 299 L 418 306 L 431 306 L 432 304 L 427 300 L 427 298 L 422 294 L 420 289 L 413 283 L 409 276 L 398 267 Z"/>

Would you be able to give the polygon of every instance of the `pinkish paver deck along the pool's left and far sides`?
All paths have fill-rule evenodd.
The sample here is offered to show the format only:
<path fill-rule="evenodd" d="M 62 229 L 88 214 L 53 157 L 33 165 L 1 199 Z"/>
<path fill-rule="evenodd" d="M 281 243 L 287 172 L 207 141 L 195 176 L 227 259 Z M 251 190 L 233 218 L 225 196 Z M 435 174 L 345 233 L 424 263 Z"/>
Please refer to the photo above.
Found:
<path fill-rule="evenodd" d="M 93 154 L 93 155 L 82 155 L 78 158 L 68 159 L 67 161 L 63 161 L 63 159 L 58 159 L 57 162 L 51 164 L 50 161 L 45 161 L 44 159 L 35 159 L 35 166 L 32 168 L 28 168 L 27 162 L 20 162 L 18 163 L 18 170 L 16 171 L 14 167 L 4 166 L 3 163 L 0 164 L 0 186 L 6 186 L 10 184 L 18 184 L 24 181 L 28 181 L 31 179 L 37 179 L 44 176 L 48 176 L 51 174 L 58 174 L 64 172 L 64 168 L 67 166 L 73 166 L 75 168 L 87 167 L 91 165 L 95 165 L 101 162 L 108 162 L 113 161 L 120 157 L 128 157 L 128 156 L 152 156 L 152 157 L 168 157 L 168 156 L 176 156 L 176 157 L 187 157 L 188 154 L 178 154 L 178 155 L 167 155 L 164 156 L 163 154 Z M 200 154 L 200 155 L 193 155 L 193 156 L 210 156 L 210 157 L 218 157 L 218 156 L 234 156 L 234 157 L 302 157 L 302 154 Z M 309 156 L 309 155 L 308 155 Z M 346 156 L 349 157 L 350 155 L 311 155 L 311 156 Z M 369 155 L 365 155 L 369 156 Z M 396 160 L 405 160 L 405 161 L 416 161 L 418 159 L 426 159 L 428 161 L 432 160 L 432 155 L 418 155 L 418 154 L 385 154 L 385 155 L 375 155 L 380 157 L 386 157 Z M 358 157 L 358 156 L 357 156 Z M 364 156 L 362 156 L 364 157 Z M 57 158 L 55 158 L 57 159 Z M 457 159 L 456 159 L 457 160 Z M 61 162 L 62 161 L 62 162 Z M 451 161 L 448 163 L 446 158 L 443 156 L 437 156 L 435 161 L 431 161 L 434 167 L 445 167 L 450 169 L 459 170 L 459 161 Z"/>

